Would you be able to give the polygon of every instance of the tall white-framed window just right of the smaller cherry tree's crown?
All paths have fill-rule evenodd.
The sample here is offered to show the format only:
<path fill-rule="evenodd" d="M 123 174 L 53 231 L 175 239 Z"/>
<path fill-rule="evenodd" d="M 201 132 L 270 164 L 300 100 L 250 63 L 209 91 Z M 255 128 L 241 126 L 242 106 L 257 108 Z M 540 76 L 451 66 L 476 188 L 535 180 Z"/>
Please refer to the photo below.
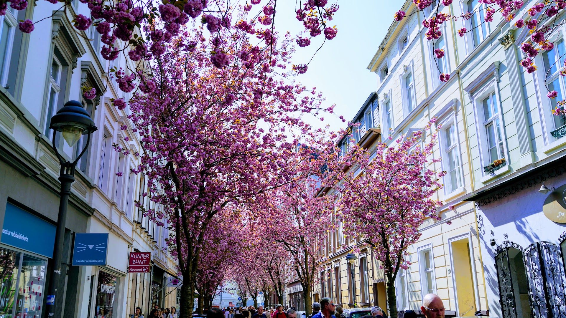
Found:
<path fill-rule="evenodd" d="M 447 192 L 456 191 L 461 187 L 461 167 L 460 167 L 460 154 L 458 153 L 457 139 L 456 139 L 456 125 L 451 123 L 444 129 L 444 156 L 445 170 L 448 174 L 445 177 L 445 186 Z"/>

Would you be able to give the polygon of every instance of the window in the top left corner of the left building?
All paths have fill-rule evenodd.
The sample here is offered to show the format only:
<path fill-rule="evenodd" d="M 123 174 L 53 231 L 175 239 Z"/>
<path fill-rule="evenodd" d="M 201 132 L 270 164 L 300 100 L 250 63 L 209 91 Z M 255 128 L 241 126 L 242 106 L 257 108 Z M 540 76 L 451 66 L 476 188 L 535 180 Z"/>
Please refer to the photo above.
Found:
<path fill-rule="evenodd" d="M 14 96 L 16 76 L 18 74 L 20 49 L 24 33 L 19 30 L 18 22 L 25 20 L 26 10 L 6 8 L 0 16 L 0 85 Z"/>

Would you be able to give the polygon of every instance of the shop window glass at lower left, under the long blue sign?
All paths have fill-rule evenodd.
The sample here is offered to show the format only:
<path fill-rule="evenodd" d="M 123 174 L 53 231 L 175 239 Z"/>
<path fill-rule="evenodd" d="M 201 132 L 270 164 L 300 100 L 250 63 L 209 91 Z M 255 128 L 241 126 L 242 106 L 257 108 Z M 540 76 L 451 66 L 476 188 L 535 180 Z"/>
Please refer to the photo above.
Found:
<path fill-rule="evenodd" d="M 47 261 L 0 248 L 0 317 L 41 316 Z"/>

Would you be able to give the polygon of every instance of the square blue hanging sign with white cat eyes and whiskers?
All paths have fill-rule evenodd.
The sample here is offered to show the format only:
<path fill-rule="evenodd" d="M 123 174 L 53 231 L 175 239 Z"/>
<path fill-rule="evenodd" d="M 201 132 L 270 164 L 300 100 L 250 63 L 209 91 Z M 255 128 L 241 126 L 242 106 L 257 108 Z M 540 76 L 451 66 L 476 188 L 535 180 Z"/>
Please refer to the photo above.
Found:
<path fill-rule="evenodd" d="M 108 233 L 75 233 L 72 265 L 106 265 Z"/>

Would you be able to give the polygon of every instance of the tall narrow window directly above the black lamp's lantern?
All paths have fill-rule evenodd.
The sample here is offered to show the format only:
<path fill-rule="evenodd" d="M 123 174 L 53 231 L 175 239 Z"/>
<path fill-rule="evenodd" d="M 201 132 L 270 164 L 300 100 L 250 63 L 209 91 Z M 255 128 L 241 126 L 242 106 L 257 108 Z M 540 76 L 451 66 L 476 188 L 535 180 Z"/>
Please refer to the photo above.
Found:
<path fill-rule="evenodd" d="M 49 122 L 51 117 L 57 113 L 57 110 L 63 107 L 65 103 L 68 77 L 68 63 L 63 58 L 63 55 L 57 47 L 53 51 L 53 58 L 51 61 L 51 68 L 49 71 L 48 82 L 48 100 L 47 100 L 47 114 L 45 124 L 45 135 L 51 136 L 49 129 Z"/>

